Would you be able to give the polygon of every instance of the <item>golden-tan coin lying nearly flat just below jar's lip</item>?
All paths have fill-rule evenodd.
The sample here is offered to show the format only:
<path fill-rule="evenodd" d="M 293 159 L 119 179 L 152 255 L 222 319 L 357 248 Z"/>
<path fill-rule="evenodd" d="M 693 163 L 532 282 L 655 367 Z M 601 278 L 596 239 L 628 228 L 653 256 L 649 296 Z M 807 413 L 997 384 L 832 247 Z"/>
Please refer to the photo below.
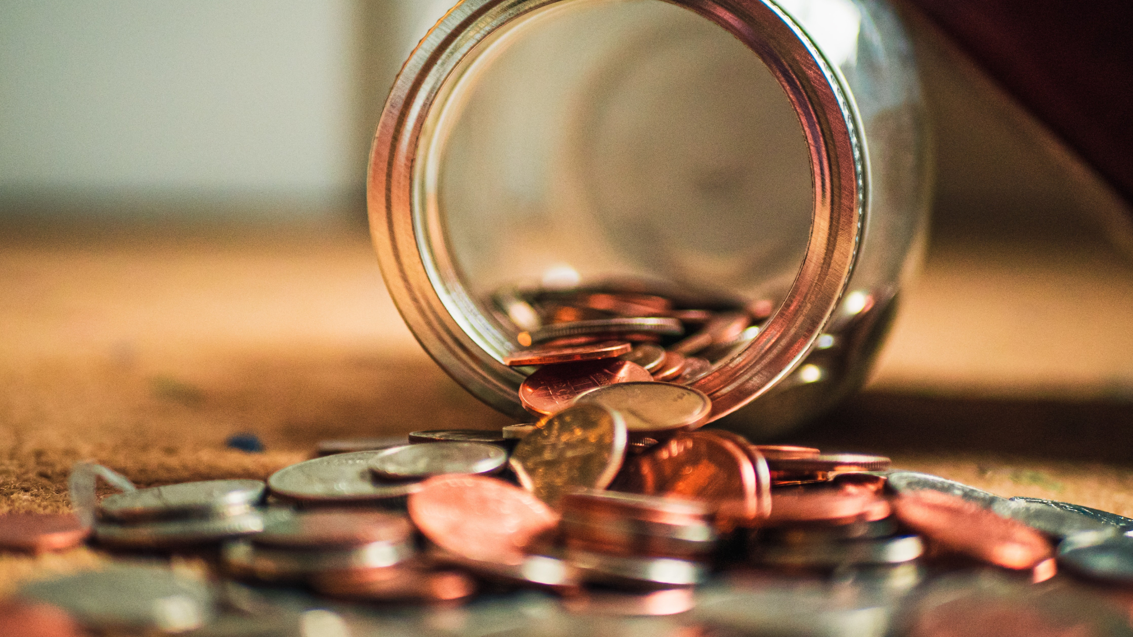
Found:
<path fill-rule="evenodd" d="M 661 382 L 606 385 L 574 399 L 574 405 L 583 402 L 620 413 L 630 434 L 695 430 L 712 414 L 712 400 L 704 392 Z"/>

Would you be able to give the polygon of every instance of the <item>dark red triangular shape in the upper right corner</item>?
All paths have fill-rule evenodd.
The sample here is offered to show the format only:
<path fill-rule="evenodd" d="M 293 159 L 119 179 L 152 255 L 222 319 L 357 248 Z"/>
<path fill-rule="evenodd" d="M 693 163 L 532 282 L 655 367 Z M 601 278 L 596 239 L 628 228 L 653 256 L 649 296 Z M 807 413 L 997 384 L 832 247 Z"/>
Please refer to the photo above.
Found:
<path fill-rule="evenodd" d="M 1133 0 L 910 0 L 1133 202 Z"/>

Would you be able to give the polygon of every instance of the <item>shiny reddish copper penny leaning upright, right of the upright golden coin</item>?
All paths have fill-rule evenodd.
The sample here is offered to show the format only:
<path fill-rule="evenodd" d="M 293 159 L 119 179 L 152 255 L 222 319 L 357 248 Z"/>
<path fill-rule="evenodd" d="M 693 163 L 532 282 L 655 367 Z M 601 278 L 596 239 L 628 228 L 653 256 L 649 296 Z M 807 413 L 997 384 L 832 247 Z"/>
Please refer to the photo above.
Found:
<path fill-rule="evenodd" d="M 708 432 L 681 432 L 628 458 L 613 491 L 727 503 L 733 515 L 759 515 L 759 479 L 736 443 Z"/>

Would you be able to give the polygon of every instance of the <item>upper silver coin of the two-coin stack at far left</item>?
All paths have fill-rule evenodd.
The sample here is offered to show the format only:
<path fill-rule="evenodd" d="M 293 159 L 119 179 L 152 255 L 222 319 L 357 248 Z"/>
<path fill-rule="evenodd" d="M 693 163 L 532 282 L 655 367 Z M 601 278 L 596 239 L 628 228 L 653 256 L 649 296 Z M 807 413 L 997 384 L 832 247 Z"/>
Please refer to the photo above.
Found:
<path fill-rule="evenodd" d="M 152 486 L 108 495 L 99 513 L 119 521 L 159 520 L 245 512 L 264 498 L 258 479 L 210 479 Z"/>

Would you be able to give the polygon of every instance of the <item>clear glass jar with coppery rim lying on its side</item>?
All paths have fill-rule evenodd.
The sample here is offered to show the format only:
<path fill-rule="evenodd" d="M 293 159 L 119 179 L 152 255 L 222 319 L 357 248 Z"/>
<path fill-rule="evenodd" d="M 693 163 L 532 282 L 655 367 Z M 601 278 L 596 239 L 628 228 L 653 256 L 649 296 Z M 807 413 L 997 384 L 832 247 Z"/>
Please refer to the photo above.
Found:
<path fill-rule="evenodd" d="M 368 198 L 401 315 L 488 405 L 530 419 L 501 290 L 613 286 L 759 308 L 691 384 L 763 440 L 864 382 L 928 186 L 883 2 L 465 0 L 393 86 Z"/>

